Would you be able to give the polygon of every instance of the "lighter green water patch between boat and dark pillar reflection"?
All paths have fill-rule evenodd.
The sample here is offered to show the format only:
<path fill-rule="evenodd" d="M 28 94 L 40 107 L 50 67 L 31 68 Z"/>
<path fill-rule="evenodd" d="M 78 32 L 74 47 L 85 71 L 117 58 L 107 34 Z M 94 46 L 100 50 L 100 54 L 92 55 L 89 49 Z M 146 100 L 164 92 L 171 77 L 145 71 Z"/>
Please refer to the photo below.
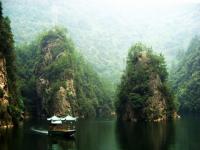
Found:
<path fill-rule="evenodd" d="M 115 140 L 115 121 L 82 120 L 77 126 L 78 150 L 118 150 Z"/>

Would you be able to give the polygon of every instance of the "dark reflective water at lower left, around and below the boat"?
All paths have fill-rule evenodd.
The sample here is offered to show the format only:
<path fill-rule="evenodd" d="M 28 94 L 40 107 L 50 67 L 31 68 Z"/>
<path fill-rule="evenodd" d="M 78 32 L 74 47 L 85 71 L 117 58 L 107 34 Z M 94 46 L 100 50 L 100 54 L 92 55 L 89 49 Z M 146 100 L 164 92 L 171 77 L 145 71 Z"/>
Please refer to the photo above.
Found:
<path fill-rule="evenodd" d="M 32 131 L 33 122 L 41 129 L 46 126 L 43 122 L 28 121 L 22 127 L 0 129 L 0 150 L 76 150 L 75 140 Z"/>

